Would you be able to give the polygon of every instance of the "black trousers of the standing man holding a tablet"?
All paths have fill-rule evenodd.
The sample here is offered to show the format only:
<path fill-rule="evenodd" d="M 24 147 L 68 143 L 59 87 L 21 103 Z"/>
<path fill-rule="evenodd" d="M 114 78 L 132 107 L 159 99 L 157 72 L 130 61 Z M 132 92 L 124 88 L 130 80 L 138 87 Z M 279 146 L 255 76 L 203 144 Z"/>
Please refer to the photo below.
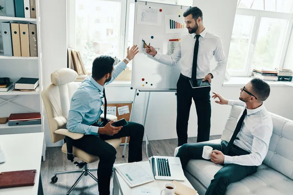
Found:
<path fill-rule="evenodd" d="M 197 142 L 208 141 L 210 131 L 210 87 L 192 88 L 189 79 L 180 75 L 177 82 L 177 122 L 178 146 L 187 143 L 188 119 L 191 99 L 197 113 Z"/>

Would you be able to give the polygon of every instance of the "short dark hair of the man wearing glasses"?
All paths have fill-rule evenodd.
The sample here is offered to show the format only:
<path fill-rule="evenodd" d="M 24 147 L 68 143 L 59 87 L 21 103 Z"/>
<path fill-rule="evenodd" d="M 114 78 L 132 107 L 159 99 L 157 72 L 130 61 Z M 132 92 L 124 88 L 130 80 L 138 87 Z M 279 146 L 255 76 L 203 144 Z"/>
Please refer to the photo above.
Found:
<path fill-rule="evenodd" d="M 251 80 L 252 91 L 254 95 L 261 101 L 265 101 L 270 96 L 270 85 L 260 78 L 253 78 Z"/>

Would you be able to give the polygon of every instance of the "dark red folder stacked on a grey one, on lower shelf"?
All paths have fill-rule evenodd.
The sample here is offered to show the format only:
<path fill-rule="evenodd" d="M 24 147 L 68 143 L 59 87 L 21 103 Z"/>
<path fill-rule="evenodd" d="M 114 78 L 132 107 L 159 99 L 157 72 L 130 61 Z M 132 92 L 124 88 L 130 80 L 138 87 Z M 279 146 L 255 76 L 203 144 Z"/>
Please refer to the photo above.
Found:
<path fill-rule="evenodd" d="M 40 113 L 15 113 L 8 117 L 8 126 L 41 124 Z"/>

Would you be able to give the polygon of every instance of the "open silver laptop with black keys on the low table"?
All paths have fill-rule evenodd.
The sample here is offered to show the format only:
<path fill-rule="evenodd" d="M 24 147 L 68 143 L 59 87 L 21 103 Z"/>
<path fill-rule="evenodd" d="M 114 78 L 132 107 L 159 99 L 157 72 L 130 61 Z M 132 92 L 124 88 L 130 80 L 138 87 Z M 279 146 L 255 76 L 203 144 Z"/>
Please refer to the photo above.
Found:
<path fill-rule="evenodd" d="M 146 156 L 149 160 L 155 179 L 184 181 L 182 165 L 179 157 L 153 156 L 146 135 Z"/>

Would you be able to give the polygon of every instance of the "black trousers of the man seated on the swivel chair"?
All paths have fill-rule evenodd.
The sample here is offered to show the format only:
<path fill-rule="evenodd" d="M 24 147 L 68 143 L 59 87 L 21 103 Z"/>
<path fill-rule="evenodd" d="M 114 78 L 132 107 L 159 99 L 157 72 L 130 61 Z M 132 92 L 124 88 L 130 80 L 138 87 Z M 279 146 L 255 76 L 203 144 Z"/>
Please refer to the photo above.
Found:
<path fill-rule="evenodd" d="M 102 122 L 98 122 L 95 126 L 102 126 Z M 73 145 L 84 150 L 85 152 L 99 156 L 100 162 L 98 166 L 98 186 L 100 195 L 110 194 L 110 178 L 113 164 L 116 159 L 116 149 L 105 142 L 107 139 L 115 139 L 120 137 L 130 137 L 128 162 L 137 162 L 143 159 L 142 143 L 144 137 L 144 126 L 135 122 L 128 122 L 117 134 L 113 136 L 107 135 L 85 135 L 84 137 L 74 140 Z"/>

